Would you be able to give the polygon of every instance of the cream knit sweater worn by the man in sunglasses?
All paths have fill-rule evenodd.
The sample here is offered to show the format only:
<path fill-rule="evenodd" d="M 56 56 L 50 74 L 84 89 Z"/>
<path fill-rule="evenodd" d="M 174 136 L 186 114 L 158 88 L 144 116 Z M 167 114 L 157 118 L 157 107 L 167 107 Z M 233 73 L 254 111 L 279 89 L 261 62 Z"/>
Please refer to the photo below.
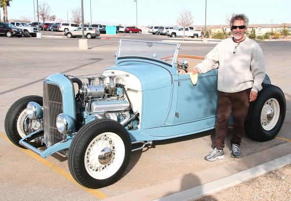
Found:
<path fill-rule="evenodd" d="M 236 52 L 233 53 L 236 47 Z M 219 68 L 217 90 L 226 93 L 240 92 L 249 88 L 258 92 L 265 77 L 265 65 L 260 46 L 246 38 L 235 43 L 232 38 L 217 44 L 207 55 L 206 59 L 196 68 L 201 73 Z"/>

